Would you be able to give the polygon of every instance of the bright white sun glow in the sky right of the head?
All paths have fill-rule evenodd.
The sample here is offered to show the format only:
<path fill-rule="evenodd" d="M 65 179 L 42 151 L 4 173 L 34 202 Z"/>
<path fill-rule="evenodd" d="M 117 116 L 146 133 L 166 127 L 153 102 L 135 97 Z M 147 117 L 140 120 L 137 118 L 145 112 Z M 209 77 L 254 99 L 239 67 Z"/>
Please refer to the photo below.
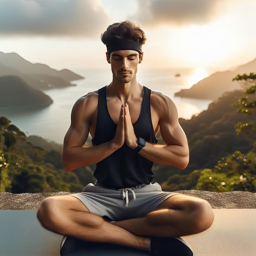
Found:
<path fill-rule="evenodd" d="M 220 21 L 205 26 L 172 29 L 166 43 L 168 55 L 173 61 L 193 67 L 220 65 L 234 51 L 229 30 Z"/>

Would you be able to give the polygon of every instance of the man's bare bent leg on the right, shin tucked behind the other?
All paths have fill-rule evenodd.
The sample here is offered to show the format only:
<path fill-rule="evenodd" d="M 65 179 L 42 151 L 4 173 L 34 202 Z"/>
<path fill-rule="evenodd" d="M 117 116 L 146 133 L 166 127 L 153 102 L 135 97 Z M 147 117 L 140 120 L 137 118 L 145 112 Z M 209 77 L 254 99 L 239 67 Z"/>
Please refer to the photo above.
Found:
<path fill-rule="evenodd" d="M 213 218 L 207 201 L 188 195 L 173 195 L 144 218 L 111 223 L 139 236 L 177 237 L 208 229 Z"/>

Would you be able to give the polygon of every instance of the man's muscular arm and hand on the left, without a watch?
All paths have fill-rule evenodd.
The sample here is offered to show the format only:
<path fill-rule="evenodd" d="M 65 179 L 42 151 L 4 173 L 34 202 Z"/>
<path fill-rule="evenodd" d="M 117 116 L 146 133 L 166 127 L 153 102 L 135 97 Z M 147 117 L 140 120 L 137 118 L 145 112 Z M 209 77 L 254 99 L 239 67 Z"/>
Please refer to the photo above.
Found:
<path fill-rule="evenodd" d="M 97 94 L 91 93 L 76 101 L 73 107 L 71 125 L 65 135 L 62 154 L 63 166 L 67 171 L 96 164 L 124 144 L 124 108 L 122 108 L 116 132 L 118 136 L 101 145 L 84 146 L 89 135 L 92 116 L 97 111 L 97 103 Z"/>

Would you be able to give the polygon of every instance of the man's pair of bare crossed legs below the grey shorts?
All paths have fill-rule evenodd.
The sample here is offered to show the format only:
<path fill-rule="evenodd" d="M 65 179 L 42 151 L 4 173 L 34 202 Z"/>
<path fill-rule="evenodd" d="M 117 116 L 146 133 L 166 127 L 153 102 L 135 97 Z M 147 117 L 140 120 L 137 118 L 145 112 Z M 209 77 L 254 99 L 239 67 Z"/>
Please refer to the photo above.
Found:
<path fill-rule="evenodd" d="M 38 220 L 45 228 L 59 234 L 150 251 L 150 236 L 199 233 L 211 226 L 213 211 L 205 200 L 173 195 L 143 218 L 109 223 L 90 213 L 77 198 L 62 195 L 43 200 Z"/>

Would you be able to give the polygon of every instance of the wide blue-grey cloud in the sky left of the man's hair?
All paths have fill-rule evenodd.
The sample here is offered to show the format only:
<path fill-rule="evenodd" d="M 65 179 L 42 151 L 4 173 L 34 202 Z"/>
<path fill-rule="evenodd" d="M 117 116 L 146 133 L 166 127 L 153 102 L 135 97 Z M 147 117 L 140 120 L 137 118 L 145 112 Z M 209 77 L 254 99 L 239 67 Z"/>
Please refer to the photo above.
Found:
<path fill-rule="evenodd" d="M 90 38 L 109 23 L 99 0 L 0 0 L 0 35 Z"/>

